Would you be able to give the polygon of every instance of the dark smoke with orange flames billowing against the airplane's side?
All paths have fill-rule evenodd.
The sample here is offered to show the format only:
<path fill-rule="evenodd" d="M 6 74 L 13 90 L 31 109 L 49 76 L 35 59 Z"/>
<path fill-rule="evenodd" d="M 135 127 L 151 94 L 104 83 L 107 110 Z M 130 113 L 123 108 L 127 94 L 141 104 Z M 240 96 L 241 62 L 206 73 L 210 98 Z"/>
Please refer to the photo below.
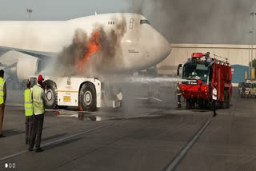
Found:
<path fill-rule="evenodd" d="M 114 20 L 114 19 L 113 19 Z M 121 40 L 126 33 L 126 20 L 116 21 L 110 29 L 96 24 L 91 34 L 85 30 L 75 30 L 70 46 L 66 46 L 54 67 L 58 76 L 81 75 L 98 77 L 117 65 L 122 53 Z"/>

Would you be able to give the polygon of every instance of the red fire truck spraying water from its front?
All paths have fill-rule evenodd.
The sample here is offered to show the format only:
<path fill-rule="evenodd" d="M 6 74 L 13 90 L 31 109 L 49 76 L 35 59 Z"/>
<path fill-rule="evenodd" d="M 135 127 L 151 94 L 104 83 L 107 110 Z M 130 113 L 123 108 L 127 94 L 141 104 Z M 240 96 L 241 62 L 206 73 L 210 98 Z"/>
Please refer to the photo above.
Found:
<path fill-rule="evenodd" d="M 179 68 L 182 65 L 179 65 Z M 230 107 L 232 95 L 231 67 L 226 61 L 210 58 L 210 53 L 193 53 L 183 66 L 181 84 L 182 96 L 186 98 L 186 109 L 194 108 L 195 104 L 200 109 L 210 106 L 212 89 L 216 85 L 217 101 L 222 108 Z"/>

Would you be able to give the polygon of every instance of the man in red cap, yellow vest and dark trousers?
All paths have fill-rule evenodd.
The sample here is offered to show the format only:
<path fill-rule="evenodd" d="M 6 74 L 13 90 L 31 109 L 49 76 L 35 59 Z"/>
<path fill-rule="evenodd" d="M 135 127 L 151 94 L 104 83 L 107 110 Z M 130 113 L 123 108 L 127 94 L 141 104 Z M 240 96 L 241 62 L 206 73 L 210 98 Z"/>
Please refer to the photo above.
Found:
<path fill-rule="evenodd" d="M 33 99 L 33 129 L 32 129 L 32 136 L 30 141 L 30 148 L 29 151 L 32 151 L 35 144 L 35 152 L 39 153 L 43 150 L 40 148 L 41 139 L 42 139 L 42 126 L 44 120 L 44 113 L 45 113 L 45 101 L 46 101 L 46 94 L 42 89 L 42 75 L 38 75 L 38 84 L 34 85 L 32 89 L 32 99 Z"/>

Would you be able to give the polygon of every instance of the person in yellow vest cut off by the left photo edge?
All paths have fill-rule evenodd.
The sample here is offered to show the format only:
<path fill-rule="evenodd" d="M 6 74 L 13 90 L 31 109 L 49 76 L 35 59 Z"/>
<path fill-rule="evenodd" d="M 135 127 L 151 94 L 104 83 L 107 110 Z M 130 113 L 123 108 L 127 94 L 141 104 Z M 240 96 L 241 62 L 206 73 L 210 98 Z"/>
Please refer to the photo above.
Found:
<path fill-rule="evenodd" d="M 5 137 L 2 134 L 3 115 L 5 112 L 6 104 L 6 81 L 3 79 L 4 74 L 4 70 L 0 70 L 0 138 Z"/>

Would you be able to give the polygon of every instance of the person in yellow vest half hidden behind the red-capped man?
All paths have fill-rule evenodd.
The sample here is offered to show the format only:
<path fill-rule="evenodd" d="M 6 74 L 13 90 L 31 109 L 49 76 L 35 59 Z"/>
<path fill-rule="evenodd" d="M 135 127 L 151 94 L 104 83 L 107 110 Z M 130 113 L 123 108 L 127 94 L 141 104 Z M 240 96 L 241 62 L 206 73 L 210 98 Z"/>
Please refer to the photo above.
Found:
<path fill-rule="evenodd" d="M 25 101 L 25 116 L 26 116 L 26 145 L 30 144 L 32 134 L 32 122 L 33 122 L 33 104 L 32 104 L 32 90 L 30 89 L 30 81 L 26 81 L 26 90 L 24 92 Z"/>

